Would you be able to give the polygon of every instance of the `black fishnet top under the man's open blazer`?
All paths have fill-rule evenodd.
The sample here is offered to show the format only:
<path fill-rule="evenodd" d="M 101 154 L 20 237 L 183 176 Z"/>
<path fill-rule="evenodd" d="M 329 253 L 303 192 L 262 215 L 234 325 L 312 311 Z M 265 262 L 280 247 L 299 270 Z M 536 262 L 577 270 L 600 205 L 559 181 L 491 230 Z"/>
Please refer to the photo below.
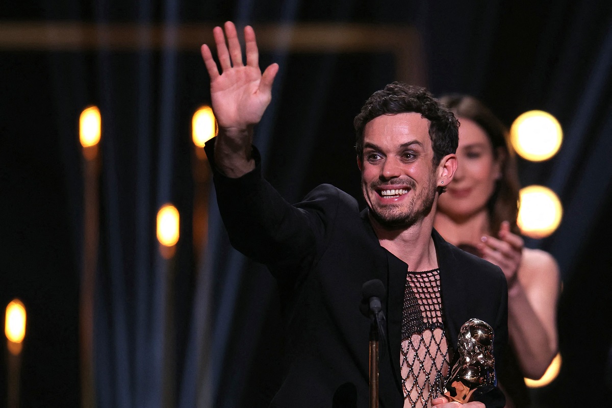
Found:
<path fill-rule="evenodd" d="M 406 275 L 401 339 L 404 408 L 431 407 L 452 357 L 444 335 L 438 269 Z"/>

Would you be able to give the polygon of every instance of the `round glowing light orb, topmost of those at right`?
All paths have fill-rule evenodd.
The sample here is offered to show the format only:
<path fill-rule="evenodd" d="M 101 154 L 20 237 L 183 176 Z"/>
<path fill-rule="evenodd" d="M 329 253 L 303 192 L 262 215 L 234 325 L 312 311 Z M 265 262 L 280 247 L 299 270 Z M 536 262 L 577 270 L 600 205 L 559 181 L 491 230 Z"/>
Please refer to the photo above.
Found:
<path fill-rule="evenodd" d="M 559 121 L 544 111 L 525 112 L 510 127 L 510 142 L 526 160 L 548 160 L 559 151 L 562 139 Z"/>

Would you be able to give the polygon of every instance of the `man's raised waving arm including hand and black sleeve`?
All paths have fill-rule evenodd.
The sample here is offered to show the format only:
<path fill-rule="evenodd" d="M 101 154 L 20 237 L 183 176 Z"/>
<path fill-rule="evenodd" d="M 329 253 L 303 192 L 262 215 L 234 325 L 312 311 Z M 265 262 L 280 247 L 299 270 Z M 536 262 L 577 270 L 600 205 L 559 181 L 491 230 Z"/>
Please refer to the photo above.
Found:
<path fill-rule="evenodd" d="M 209 46 L 201 48 L 211 77 L 212 108 L 218 136 L 206 143 L 217 202 L 234 248 L 271 270 L 305 270 L 315 253 L 320 231 L 318 211 L 291 206 L 261 176 L 258 152 L 252 145 L 258 124 L 272 98 L 278 65 L 261 73 L 253 28 L 244 29 L 247 64 L 233 23 L 213 30 L 219 73 Z M 226 45 L 227 40 L 227 45 Z"/>

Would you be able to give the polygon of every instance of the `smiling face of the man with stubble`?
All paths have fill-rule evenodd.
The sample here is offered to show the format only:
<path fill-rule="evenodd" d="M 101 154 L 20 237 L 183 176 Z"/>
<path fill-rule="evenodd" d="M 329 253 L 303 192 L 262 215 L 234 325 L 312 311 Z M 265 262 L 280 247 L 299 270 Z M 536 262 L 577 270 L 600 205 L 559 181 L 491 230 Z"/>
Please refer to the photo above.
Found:
<path fill-rule="evenodd" d="M 365 125 L 362 189 L 378 223 L 406 228 L 431 212 L 437 187 L 432 161 L 429 121 L 419 113 L 378 116 Z"/>

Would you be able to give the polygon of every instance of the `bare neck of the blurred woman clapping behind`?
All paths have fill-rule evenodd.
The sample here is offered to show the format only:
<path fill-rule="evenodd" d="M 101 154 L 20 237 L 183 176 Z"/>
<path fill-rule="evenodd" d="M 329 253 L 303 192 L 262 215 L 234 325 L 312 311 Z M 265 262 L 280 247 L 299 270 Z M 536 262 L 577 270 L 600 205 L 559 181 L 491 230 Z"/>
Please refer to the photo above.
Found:
<path fill-rule="evenodd" d="M 483 235 L 489 234 L 489 217 L 487 210 L 484 209 L 463 220 L 451 218 L 445 213 L 438 212 L 434 226 L 436 231 L 453 245 L 468 243 L 476 246 L 480 243 L 480 238 Z"/>

